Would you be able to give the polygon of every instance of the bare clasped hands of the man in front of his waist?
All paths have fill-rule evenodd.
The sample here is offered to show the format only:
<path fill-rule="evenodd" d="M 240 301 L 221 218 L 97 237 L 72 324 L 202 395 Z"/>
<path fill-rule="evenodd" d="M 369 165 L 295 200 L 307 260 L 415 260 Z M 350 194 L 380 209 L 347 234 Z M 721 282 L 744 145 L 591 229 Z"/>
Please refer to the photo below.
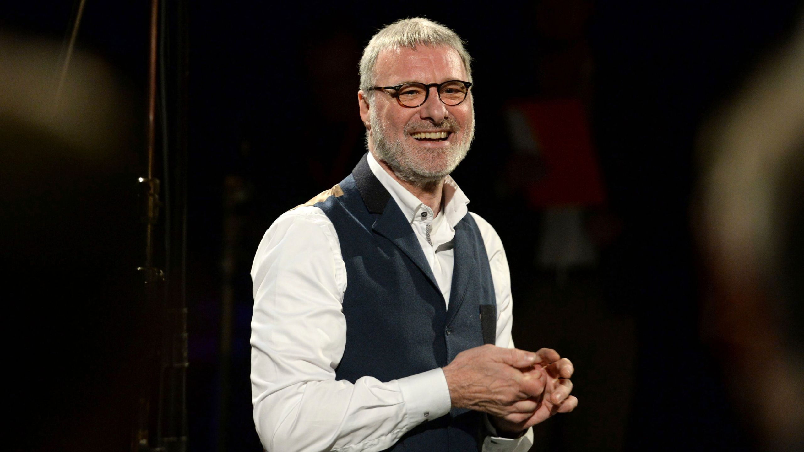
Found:
<path fill-rule="evenodd" d="M 444 368 L 455 408 L 490 414 L 498 431 L 516 434 L 578 405 L 570 396 L 575 370 L 552 348 L 535 353 L 484 345 L 461 351 Z"/>

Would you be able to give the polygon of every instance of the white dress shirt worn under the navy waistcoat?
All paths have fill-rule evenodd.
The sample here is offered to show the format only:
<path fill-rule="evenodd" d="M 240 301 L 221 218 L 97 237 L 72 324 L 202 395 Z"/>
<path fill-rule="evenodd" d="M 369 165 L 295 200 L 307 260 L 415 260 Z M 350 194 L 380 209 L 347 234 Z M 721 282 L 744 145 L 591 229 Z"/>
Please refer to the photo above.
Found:
<path fill-rule="evenodd" d="M 368 154 L 372 173 L 388 190 L 416 232 L 436 281 L 449 300 L 455 225 L 469 199 L 449 176 L 441 212 L 421 203 Z M 511 340 L 511 278 L 503 244 L 480 216 L 497 298 L 499 347 Z M 265 232 L 252 265 L 252 403 L 260 441 L 269 452 L 365 451 L 391 447 L 420 423 L 449 413 L 444 372 L 435 368 L 399 380 L 364 376 L 335 380 L 346 346 L 341 303 L 346 265 L 335 228 L 321 209 L 303 206 L 282 214 Z M 488 421 L 486 428 L 494 431 Z M 486 452 L 522 452 L 523 438 L 486 438 Z"/>

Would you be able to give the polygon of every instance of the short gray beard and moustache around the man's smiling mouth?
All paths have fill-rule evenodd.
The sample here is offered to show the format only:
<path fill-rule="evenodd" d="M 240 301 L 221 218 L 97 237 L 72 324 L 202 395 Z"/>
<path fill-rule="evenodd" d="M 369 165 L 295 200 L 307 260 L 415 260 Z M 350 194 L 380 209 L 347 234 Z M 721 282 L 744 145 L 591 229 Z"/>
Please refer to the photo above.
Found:
<path fill-rule="evenodd" d="M 443 168 L 433 169 L 426 165 L 426 162 L 433 157 L 433 154 L 428 150 L 405 150 L 404 144 L 401 139 L 389 140 L 386 134 L 385 125 L 383 121 L 379 120 L 375 113 L 375 109 L 369 110 L 369 121 L 371 121 L 371 133 L 366 131 L 366 144 L 371 140 L 377 158 L 388 163 L 392 171 L 399 179 L 408 183 L 412 183 L 416 187 L 426 187 L 436 183 L 441 183 L 444 178 L 452 173 L 457 167 L 458 163 L 466 157 L 469 148 L 474 139 L 474 106 L 472 111 L 473 121 L 470 125 L 470 133 L 466 135 L 461 142 L 454 143 L 448 150 L 437 151 L 446 152 L 447 162 Z M 452 117 L 446 118 L 441 121 L 441 124 L 432 125 L 429 122 L 423 123 L 423 127 L 416 126 L 416 130 L 444 128 L 453 130 L 453 134 L 460 132 L 460 126 L 457 125 Z M 408 127 L 405 126 L 405 134 L 407 134 Z"/>

